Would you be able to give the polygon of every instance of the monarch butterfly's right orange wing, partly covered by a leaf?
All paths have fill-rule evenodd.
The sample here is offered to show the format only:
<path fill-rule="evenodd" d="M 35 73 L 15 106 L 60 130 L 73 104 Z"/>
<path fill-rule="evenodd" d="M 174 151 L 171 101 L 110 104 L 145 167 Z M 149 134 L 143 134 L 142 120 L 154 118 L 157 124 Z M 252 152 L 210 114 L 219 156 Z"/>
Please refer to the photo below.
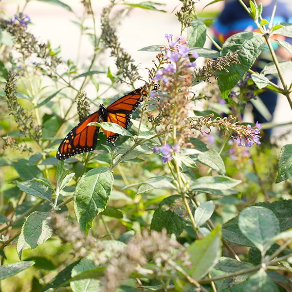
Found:
<path fill-rule="evenodd" d="M 146 95 L 147 91 L 145 88 L 140 87 L 119 98 L 107 108 L 107 122 L 118 124 L 127 129 L 130 123 L 131 113 L 137 109 L 143 101 L 143 96 Z M 104 129 L 103 131 L 107 135 L 107 142 L 111 142 L 114 145 L 114 141 L 117 140 L 119 134 Z"/>

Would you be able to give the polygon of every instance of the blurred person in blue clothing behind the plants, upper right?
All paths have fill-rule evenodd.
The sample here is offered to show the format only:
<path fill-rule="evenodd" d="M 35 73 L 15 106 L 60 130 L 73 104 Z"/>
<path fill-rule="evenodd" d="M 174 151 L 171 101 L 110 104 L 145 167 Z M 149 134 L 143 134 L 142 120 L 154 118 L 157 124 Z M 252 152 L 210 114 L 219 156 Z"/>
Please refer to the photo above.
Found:
<path fill-rule="evenodd" d="M 245 4 L 249 7 L 249 0 L 244 0 Z M 262 3 L 263 11 L 262 18 L 270 21 L 275 0 L 256 0 L 256 3 Z M 292 23 L 292 14 L 289 7 L 281 0 L 278 0 L 276 13 L 274 16 L 273 23 L 279 22 L 289 22 Z M 213 32 L 216 38 L 216 41 L 219 44 L 222 44 L 228 37 L 237 34 L 243 31 L 254 31 L 258 32 L 258 28 L 254 20 L 247 14 L 245 9 L 237 0 L 226 1 L 223 11 L 220 13 L 219 17 L 215 20 L 213 24 Z M 283 36 L 276 36 L 276 39 L 284 39 L 290 44 L 292 44 L 292 38 L 285 38 Z M 273 37 L 272 37 L 273 40 Z M 272 41 L 273 48 L 276 54 L 279 57 L 279 60 L 287 61 L 291 60 L 292 55 L 287 49 L 282 46 L 279 46 L 278 42 Z M 215 49 L 215 47 L 214 47 Z M 263 50 L 262 54 L 256 60 L 256 63 L 253 66 L 253 70 L 256 72 L 262 71 L 263 67 L 272 61 L 271 54 L 268 49 Z M 268 76 L 269 77 L 269 76 Z M 273 77 L 269 78 L 275 84 L 278 83 L 278 78 Z M 270 90 L 264 90 L 258 97 L 262 100 L 266 108 L 269 110 L 272 119 L 274 110 L 277 103 L 277 93 Z M 255 107 L 253 108 L 254 119 L 259 123 L 271 122 L 267 120 Z M 272 129 L 266 129 L 265 134 L 270 137 Z"/>

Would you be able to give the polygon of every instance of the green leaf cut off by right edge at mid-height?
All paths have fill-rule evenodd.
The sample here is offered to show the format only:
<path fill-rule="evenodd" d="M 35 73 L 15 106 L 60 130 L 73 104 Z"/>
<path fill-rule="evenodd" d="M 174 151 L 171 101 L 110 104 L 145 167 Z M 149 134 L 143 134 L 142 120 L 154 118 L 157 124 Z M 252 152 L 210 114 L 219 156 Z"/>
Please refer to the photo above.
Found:
<path fill-rule="evenodd" d="M 278 175 L 276 183 L 281 183 L 292 176 L 292 144 L 285 145 L 281 148 L 278 162 Z"/>

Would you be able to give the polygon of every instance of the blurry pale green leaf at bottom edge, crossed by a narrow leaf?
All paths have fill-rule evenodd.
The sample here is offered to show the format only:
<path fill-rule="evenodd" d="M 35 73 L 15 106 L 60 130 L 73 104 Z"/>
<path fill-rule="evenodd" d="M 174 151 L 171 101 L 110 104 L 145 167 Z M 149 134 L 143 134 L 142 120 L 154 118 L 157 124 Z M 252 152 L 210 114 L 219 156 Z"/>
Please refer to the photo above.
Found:
<path fill-rule="evenodd" d="M 94 268 L 95 266 L 92 260 L 83 258 L 81 259 L 80 263 L 73 267 L 71 275 L 74 277 Z M 72 281 L 70 286 L 73 292 L 96 292 L 101 288 L 101 282 L 96 279 L 83 279 Z"/>

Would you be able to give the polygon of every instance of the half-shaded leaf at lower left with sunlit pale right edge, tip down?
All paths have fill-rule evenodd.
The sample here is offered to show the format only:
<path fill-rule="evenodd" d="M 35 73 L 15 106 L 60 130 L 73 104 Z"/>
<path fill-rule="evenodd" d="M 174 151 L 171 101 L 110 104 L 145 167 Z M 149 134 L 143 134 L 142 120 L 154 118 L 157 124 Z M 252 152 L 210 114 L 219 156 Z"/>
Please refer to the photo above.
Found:
<path fill-rule="evenodd" d="M 34 249 L 47 241 L 53 234 L 50 225 L 51 213 L 35 211 L 25 220 L 18 238 L 17 252 L 21 260 L 25 249 Z"/>

